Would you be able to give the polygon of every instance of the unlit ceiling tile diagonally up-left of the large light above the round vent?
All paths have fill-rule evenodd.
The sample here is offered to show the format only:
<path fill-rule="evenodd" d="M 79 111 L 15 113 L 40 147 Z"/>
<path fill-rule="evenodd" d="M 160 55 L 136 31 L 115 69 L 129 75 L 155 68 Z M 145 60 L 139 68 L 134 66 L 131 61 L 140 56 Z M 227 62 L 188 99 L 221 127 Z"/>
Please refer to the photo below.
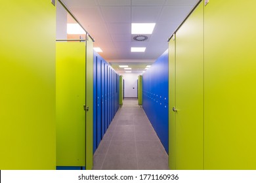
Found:
<path fill-rule="evenodd" d="M 108 23 L 130 23 L 130 7 L 101 7 L 104 20 Z"/>

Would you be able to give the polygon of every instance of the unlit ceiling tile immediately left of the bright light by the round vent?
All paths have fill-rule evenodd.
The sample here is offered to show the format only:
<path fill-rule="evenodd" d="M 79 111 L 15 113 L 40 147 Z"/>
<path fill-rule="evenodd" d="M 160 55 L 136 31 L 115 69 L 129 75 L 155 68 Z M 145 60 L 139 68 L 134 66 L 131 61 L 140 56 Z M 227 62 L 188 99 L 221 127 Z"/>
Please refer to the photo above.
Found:
<path fill-rule="evenodd" d="M 112 34 L 131 34 L 131 24 L 107 24 Z"/>

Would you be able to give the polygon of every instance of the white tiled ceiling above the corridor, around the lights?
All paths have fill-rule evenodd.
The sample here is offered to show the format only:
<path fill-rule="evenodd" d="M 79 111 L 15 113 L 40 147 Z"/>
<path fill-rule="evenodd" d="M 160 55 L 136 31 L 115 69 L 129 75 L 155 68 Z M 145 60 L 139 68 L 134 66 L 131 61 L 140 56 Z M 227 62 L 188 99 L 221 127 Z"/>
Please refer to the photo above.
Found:
<path fill-rule="evenodd" d="M 95 39 L 100 55 L 110 64 L 121 60 L 152 62 L 168 48 L 167 39 L 198 0 L 62 0 Z M 156 23 L 144 42 L 133 41 L 131 23 Z M 131 52 L 146 47 L 146 52 Z M 119 60 L 119 61 L 117 61 Z M 127 62 L 126 62 L 127 63 Z M 116 65 L 116 64 L 114 64 Z M 113 67 L 114 67 L 113 65 Z M 114 67 L 115 69 L 115 67 Z"/>

